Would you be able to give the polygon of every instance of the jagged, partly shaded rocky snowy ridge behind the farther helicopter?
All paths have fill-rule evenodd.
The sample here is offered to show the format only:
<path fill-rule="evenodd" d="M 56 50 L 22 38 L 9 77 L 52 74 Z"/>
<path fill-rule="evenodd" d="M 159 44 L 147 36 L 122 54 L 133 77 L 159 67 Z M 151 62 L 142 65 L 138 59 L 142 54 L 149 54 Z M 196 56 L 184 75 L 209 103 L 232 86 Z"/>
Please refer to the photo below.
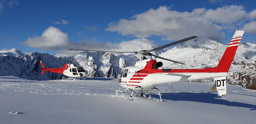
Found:
<path fill-rule="evenodd" d="M 106 52 L 81 52 L 76 56 L 54 57 L 48 53 L 30 53 L 27 55 L 0 56 L 0 75 L 1 76 L 19 76 L 34 80 L 55 80 L 60 79 L 61 74 L 46 72 L 41 75 L 41 59 L 46 68 L 60 68 L 64 65 L 63 60 L 77 60 L 85 62 L 74 62 L 75 65 L 84 67 L 90 77 L 108 77 L 118 78 L 122 68 L 129 66 L 124 59 L 117 59 L 114 54 Z M 55 61 L 51 61 L 55 60 Z M 121 64 L 121 67 L 119 65 Z"/>

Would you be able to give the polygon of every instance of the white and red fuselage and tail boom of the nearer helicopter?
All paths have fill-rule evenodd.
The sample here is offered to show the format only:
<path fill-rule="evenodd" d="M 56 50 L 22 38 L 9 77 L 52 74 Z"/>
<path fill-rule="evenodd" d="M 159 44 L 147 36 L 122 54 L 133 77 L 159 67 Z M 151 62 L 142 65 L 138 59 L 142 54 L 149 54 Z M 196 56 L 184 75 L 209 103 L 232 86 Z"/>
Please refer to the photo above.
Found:
<path fill-rule="evenodd" d="M 154 63 L 157 62 L 153 59 L 145 59 L 136 62 L 135 66 L 125 67 L 119 78 L 119 84 L 123 88 L 133 90 L 137 87 L 134 90 L 147 91 L 159 84 L 234 75 L 233 72 L 218 72 L 217 68 L 153 69 Z"/>

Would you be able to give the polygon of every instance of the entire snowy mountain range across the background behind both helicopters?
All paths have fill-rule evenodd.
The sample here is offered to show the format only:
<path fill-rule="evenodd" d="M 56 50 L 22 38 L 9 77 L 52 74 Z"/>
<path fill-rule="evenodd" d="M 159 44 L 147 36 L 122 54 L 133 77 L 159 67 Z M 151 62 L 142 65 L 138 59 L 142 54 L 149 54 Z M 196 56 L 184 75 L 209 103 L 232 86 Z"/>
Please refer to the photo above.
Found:
<path fill-rule="evenodd" d="M 146 48 L 153 49 L 150 46 L 147 46 Z M 157 59 L 157 61 L 163 62 L 162 68 L 202 69 L 205 67 L 216 67 L 226 48 L 227 45 L 219 40 L 197 38 L 195 40 L 190 40 L 186 43 L 179 44 L 170 50 L 159 50 L 157 52 L 152 52 L 152 54 L 186 63 L 186 65 L 181 65 L 162 59 Z M 229 83 L 239 84 L 249 89 L 256 89 L 255 48 L 256 44 L 250 42 L 241 43 L 239 45 L 234 61 L 229 70 L 231 72 L 237 72 L 237 75 L 228 77 Z M 17 51 L 14 49 L 12 50 Z M 139 49 L 135 49 L 133 51 L 139 51 Z M 83 61 L 74 62 L 74 64 L 87 70 L 89 77 L 108 78 L 118 78 L 124 67 L 133 66 L 136 61 L 141 59 L 140 54 L 113 54 L 88 51 L 81 52 L 75 56 L 66 57 L 55 57 L 47 53 L 37 52 L 27 55 L 4 55 L 0 55 L 0 76 L 14 75 L 34 80 L 55 80 L 61 78 L 61 74 L 52 72 L 46 72 L 45 75 L 41 75 L 41 66 L 39 64 L 40 60 L 38 59 L 44 59 L 43 63 L 45 63 L 45 67 L 47 68 L 61 67 L 61 65 L 64 65 L 65 63 L 61 60 Z M 50 61 L 49 59 L 56 61 Z"/>

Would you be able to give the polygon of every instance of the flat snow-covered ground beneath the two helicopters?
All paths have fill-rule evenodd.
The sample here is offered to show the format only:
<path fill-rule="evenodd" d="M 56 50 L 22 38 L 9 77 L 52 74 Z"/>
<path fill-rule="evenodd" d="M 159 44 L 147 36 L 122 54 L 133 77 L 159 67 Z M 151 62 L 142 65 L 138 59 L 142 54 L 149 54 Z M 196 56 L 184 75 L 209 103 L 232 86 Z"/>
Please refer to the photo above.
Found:
<path fill-rule="evenodd" d="M 117 97 L 118 79 L 64 81 L 0 76 L 0 123 L 255 123 L 256 90 L 227 84 L 225 97 L 212 83 L 158 85 L 158 99 Z M 157 91 L 152 91 L 157 92 Z M 131 92 L 126 92 L 129 97 Z M 158 95 L 152 95 L 159 98 Z"/>

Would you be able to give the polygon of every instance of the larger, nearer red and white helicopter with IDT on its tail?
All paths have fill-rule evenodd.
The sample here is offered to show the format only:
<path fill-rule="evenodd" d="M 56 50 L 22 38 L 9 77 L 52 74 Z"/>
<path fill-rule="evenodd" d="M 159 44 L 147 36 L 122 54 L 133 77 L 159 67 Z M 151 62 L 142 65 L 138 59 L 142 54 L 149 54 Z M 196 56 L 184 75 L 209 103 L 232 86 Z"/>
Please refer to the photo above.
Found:
<path fill-rule="evenodd" d="M 197 38 L 196 36 L 175 41 L 170 44 L 166 44 L 152 50 L 141 50 L 141 52 L 123 52 L 123 53 L 142 54 L 143 56 L 142 56 L 142 60 L 136 62 L 134 66 L 125 67 L 123 69 L 121 77 L 119 79 L 119 84 L 121 85 L 121 87 L 125 88 L 125 90 L 124 91 L 116 90 L 116 93 L 118 95 L 118 92 L 123 92 L 123 95 L 124 95 L 125 91 L 131 90 L 132 93 L 129 98 L 129 100 L 131 100 L 131 97 L 134 91 L 141 91 L 141 93 L 139 93 L 138 95 L 146 97 L 144 92 L 157 89 L 155 88 L 156 85 L 214 78 L 215 84 L 211 89 L 213 91 L 217 89 L 219 96 L 223 97 L 223 95 L 226 94 L 226 76 L 234 75 L 234 72 L 228 72 L 228 71 L 233 61 L 233 58 L 235 56 L 235 52 L 238 48 L 238 45 L 242 39 L 243 33 L 244 31 L 236 30 L 229 45 L 227 46 L 225 53 L 223 54 L 221 60 L 219 61 L 218 66 L 211 67 L 211 68 L 158 69 L 163 65 L 162 62 L 157 62 L 154 59 L 146 59 L 145 57 L 146 55 L 149 55 L 149 56 L 154 56 L 155 58 L 160 58 L 167 61 L 184 64 L 181 62 L 159 57 L 157 55 L 153 55 L 150 52 L 160 50 L 175 44 L 179 44 L 181 42 L 185 42 L 185 41 Z M 78 50 L 78 49 L 70 49 L 70 50 Z M 81 51 L 98 51 L 98 50 L 81 50 Z M 117 52 L 117 51 L 102 51 L 102 52 Z M 159 94 L 157 95 L 160 96 L 160 101 L 162 101 L 160 91 L 158 90 L 158 92 Z M 123 95 L 121 97 L 123 97 Z M 149 92 L 149 96 L 150 96 L 150 92 Z"/>

